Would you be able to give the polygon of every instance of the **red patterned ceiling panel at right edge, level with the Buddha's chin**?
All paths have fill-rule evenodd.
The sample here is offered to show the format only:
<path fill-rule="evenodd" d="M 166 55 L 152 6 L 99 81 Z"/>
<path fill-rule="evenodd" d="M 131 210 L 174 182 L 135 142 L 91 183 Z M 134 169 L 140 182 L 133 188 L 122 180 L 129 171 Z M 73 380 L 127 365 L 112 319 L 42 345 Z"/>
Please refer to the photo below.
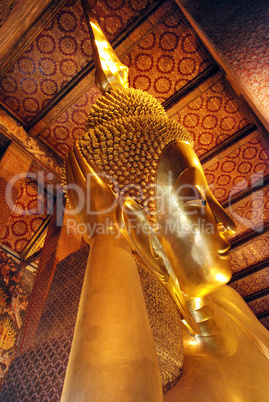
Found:
<path fill-rule="evenodd" d="M 269 268 L 265 268 L 230 285 L 242 297 L 252 295 L 269 287 Z M 259 300 L 259 299 L 258 299 Z"/>

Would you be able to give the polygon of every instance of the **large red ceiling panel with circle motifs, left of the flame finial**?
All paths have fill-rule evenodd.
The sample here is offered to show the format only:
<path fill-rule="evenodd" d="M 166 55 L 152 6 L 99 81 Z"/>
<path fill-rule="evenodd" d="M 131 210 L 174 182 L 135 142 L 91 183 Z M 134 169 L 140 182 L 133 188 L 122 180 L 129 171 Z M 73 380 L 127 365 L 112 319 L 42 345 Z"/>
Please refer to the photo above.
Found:
<path fill-rule="evenodd" d="M 0 80 L 0 99 L 28 123 L 90 59 L 83 10 L 69 0 Z"/>

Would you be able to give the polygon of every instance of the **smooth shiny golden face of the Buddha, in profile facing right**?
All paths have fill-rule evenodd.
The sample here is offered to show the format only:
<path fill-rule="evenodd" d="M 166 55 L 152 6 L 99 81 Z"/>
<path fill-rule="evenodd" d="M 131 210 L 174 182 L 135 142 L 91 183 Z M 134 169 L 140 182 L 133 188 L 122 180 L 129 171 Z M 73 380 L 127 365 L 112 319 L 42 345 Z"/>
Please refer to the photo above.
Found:
<path fill-rule="evenodd" d="M 227 283 L 230 244 L 225 234 L 235 224 L 210 191 L 192 147 L 170 144 L 157 176 L 156 234 L 184 294 L 200 297 Z"/>

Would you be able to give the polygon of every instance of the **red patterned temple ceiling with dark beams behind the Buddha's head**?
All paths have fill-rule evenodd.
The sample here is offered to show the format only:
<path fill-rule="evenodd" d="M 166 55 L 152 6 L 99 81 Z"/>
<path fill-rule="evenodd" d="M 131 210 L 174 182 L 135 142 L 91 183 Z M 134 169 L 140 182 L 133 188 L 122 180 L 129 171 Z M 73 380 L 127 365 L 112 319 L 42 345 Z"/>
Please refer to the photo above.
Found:
<path fill-rule="evenodd" d="M 28 152 L 40 147 L 35 159 L 43 166 L 49 154 L 49 169 L 58 177 L 59 166 L 83 134 L 87 113 L 101 93 L 94 84 L 92 49 L 80 1 L 61 1 L 57 7 L 49 3 L 19 42 L 0 55 L 0 112 L 16 130 L 23 130 L 24 139 L 22 132 L 12 138 L 3 123 L 1 132 L 21 141 Z M 89 3 L 129 67 L 130 85 L 155 96 L 169 117 L 192 134 L 214 195 L 237 222 L 238 231 L 230 239 L 231 286 L 268 325 L 269 152 L 262 127 L 175 1 Z M 19 201 L 30 202 L 32 197 L 37 202 L 34 185 L 27 182 L 27 186 Z M 27 192 L 31 194 L 26 200 Z M 31 223 L 19 221 L 16 213 L 10 219 L 11 229 L 27 226 L 25 242 L 31 237 L 29 225 L 34 233 L 45 216 Z M 18 241 L 16 246 L 10 233 L 5 238 L 6 245 L 21 251 L 24 243 Z"/>

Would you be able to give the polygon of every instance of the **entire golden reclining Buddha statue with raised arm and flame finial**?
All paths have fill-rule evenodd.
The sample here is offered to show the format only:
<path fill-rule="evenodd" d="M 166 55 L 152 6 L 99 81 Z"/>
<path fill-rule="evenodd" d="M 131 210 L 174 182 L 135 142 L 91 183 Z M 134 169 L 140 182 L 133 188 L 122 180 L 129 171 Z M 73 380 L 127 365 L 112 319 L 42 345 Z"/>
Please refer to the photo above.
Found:
<path fill-rule="evenodd" d="M 90 254 L 62 400 L 163 400 L 135 259 L 182 320 L 183 373 L 165 401 L 268 400 L 268 332 L 226 285 L 235 224 L 189 133 L 128 88 L 127 68 L 91 15 L 90 26 L 104 94 L 66 160 L 68 201 Z"/>

